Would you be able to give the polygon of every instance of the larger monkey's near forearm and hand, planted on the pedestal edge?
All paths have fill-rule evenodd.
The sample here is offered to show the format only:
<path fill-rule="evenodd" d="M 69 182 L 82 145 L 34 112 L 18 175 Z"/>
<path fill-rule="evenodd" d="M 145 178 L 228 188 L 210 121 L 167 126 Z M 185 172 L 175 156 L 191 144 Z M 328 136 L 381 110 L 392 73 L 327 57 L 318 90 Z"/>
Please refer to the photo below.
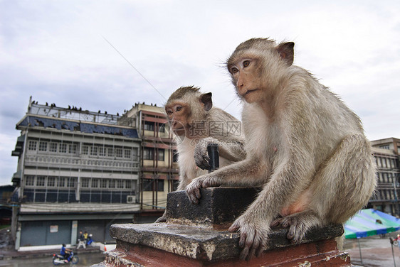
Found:
<path fill-rule="evenodd" d="M 273 219 L 309 185 L 311 175 L 307 167 L 301 166 L 304 162 L 307 165 L 307 160 L 292 154 L 280 163 L 256 200 L 229 228 L 229 231 L 241 233 L 242 259 L 253 258 L 265 250 Z"/>

